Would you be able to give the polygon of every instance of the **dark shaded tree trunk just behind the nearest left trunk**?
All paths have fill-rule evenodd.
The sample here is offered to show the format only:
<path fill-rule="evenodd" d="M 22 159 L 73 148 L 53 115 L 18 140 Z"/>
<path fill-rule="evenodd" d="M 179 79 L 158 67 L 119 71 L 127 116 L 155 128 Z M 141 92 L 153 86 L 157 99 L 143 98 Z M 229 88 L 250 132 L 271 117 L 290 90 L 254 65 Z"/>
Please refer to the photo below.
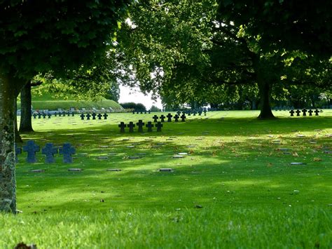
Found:
<path fill-rule="evenodd" d="M 32 128 L 31 104 L 31 84 L 28 82 L 21 90 L 21 133 L 34 131 Z"/>

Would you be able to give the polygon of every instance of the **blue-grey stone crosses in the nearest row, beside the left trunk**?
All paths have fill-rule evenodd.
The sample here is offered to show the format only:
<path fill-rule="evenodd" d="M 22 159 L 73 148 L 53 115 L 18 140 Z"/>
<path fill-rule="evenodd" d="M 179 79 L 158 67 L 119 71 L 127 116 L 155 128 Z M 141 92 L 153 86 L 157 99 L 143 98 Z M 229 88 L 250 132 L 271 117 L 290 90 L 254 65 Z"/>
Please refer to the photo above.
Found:
<path fill-rule="evenodd" d="M 15 145 L 15 161 L 18 163 L 18 154 L 22 154 L 23 152 L 27 152 L 27 163 L 36 163 L 36 152 L 40 152 L 40 147 L 37 145 L 34 140 L 27 141 L 27 144 L 22 148 L 16 147 Z M 62 148 L 54 147 L 53 143 L 48 142 L 45 144 L 45 147 L 41 149 L 41 154 L 45 155 L 45 162 L 46 163 L 54 163 L 54 155 L 59 153 L 63 155 L 63 162 L 64 163 L 72 163 L 73 158 L 72 154 L 76 153 L 76 149 L 71 146 L 69 142 L 65 142 Z"/>

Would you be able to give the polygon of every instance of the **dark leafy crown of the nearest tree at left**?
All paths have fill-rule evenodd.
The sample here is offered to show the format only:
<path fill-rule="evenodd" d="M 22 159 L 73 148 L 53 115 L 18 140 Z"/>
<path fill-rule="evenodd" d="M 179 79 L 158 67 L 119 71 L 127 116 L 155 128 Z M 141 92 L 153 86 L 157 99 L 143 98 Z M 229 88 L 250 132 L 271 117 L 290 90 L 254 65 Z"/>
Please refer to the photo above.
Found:
<path fill-rule="evenodd" d="M 0 1 L 1 72 L 32 79 L 99 61 L 129 2 Z"/>

